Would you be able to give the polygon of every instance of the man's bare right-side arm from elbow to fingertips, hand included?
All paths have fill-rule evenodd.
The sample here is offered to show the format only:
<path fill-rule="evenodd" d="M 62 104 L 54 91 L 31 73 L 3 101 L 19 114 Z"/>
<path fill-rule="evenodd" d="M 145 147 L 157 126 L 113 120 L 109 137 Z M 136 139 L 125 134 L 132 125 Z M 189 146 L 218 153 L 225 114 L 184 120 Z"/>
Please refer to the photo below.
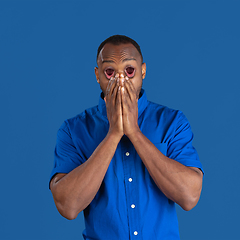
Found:
<path fill-rule="evenodd" d="M 124 133 L 134 145 L 142 162 L 158 188 L 167 198 L 190 210 L 198 202 L 202 188 L 202 172 L 163 155 L 138 127 L 137 100 L 131 81 L 122 88 Z"/>

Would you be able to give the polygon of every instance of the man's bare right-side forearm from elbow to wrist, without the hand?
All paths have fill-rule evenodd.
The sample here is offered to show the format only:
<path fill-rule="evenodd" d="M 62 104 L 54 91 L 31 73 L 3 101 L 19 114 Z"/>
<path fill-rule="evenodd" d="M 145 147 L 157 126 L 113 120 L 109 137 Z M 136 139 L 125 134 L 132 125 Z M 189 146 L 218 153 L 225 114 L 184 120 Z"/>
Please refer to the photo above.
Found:
<path fill-rule="evenodd" d="M 191 210 L 200 197 L 202 171 L 166 157 L 141 132 L 129 138 L 158 188 L 184 210 Z"/>

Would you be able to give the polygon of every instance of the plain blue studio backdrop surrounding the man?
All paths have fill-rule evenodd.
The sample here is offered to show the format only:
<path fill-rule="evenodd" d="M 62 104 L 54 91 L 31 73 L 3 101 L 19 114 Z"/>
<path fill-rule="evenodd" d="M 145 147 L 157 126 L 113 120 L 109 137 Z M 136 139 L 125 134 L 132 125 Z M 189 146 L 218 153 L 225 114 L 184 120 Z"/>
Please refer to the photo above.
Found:
<path fill-rule="evenodd" d="M 205 170 L 183 240 L 239 239 L 239 1 L 0 1 L 0 239 L 82 239 L 48 190 L 57 130 L 98 102 L 99 44 L 141 46 L 148 99 L 189 119 Z"/>

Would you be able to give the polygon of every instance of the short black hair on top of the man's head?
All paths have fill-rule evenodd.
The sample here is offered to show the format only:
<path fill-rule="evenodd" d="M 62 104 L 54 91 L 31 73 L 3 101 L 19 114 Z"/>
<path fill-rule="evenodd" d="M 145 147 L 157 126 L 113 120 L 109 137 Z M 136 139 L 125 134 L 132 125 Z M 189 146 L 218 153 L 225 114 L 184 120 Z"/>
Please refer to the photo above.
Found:
<path fill-rule="evenodd" d="M 131 43 L 131 44 L 138 50 L 138 52 L 140 53 L 141 59 L 142 59 L 142 62 L 143 62 L 143 56 L 142 56 L 142 52 L 141 52 L 140 46 L 139 46 L 138 43 L 137 43 L 136 41 L 134 41 L 132 38 L 127 37 L 127 36 L 125 36 L 125 35 L 113 35 L 113 36 L 107 38 L 106 40 L 104 40 L 104 41 L 99 45 L 99 47 L 98 47 L 97 60 L 98 60 L 99 53 L 101 52 L 102 48 L 104 47 L 104 45 L 105 45 L 106 43 L 112 43 L 112 44 L 114 44 L 114 45 Z"/>

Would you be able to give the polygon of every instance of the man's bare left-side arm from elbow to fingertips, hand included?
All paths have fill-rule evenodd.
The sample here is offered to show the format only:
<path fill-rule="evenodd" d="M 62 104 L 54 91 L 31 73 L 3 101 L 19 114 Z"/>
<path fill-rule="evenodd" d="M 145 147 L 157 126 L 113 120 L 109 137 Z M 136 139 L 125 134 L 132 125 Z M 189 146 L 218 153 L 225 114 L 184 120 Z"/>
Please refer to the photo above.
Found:
<path fill-rule="evenodd" d="M 50 188 L 58 211 L 74 219 L 93 200 L 123 135 L 121 101 L 117 81 L 109 83 L 106 96 L 109 132 L 90 158 L 68 174 L 57 174 Z"/>

